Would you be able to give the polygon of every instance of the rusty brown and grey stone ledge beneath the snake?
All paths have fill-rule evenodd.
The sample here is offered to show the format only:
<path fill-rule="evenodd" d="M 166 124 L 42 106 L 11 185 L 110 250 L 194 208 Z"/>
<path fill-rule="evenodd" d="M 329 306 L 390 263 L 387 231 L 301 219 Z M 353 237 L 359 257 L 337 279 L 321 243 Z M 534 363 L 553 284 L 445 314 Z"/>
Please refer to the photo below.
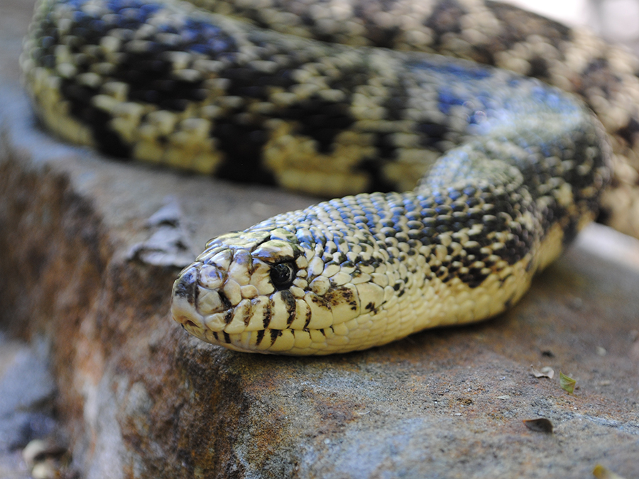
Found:
<path fill-rule="evenodd" d="M 38 131 L 16 80 L 30 3 L 0 7 L 0 328 L 45 338 L 85 478 L 587 478 L 597 463 L 639 477 L 637 241 L 589 229 L 475 326 L 328 358 L 208 346 L 169 319 L 176 268 L 132 254 L 157 235 L 148 219 L 169 195 L 182 208 L 153 241 L 171 263 L 176 238 L 201 246 L 312 199 Z M 537 417 L 555 432 L 524 426 Z"/>

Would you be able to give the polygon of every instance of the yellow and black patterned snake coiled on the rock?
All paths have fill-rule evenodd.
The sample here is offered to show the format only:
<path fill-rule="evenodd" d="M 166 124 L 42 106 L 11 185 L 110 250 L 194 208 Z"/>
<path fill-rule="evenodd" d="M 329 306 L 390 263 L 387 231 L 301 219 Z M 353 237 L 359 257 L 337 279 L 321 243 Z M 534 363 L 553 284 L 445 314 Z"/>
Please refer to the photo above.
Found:
<path fill-rule="evenodd" d="M 207 243 L 172 312 L 209 343 L 342 353 L 494 316 L 595 218 L 611 160 L 636 158 L 635 60 L 532 13 L 195 3 L 217 13 L 43 0 L 21 64 L 38 118 L 67 141 L 348 195 Z"/>

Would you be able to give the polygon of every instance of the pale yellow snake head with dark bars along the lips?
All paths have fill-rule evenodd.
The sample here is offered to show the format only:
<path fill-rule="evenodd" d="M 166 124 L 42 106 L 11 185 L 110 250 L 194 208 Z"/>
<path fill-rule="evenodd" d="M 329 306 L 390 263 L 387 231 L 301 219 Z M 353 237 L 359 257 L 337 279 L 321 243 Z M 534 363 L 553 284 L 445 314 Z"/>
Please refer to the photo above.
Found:
<path fill-rule="evenodd" d="M 325 261 L 307 233 L 249 230 L 209 241 L 175 280 L 173 319 L 190 334 L 236 351 L 341 351 L 352 341 L 346 334 L 356 326 L 362 295 L 370 314 L 383 302 L 384 288 L 354 285 L 356 267 Z"/>

